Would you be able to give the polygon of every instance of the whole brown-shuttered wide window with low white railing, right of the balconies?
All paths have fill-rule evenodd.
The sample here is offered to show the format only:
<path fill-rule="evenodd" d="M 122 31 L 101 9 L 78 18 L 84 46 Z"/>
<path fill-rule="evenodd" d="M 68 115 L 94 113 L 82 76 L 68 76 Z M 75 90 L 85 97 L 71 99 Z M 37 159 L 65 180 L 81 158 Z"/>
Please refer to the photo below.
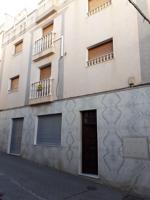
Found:
<path fill-rule="evenodd" d="M 112 39 L 88 48 L 88 66 L 102 63 L 111 59 L 113 59 Z"/>

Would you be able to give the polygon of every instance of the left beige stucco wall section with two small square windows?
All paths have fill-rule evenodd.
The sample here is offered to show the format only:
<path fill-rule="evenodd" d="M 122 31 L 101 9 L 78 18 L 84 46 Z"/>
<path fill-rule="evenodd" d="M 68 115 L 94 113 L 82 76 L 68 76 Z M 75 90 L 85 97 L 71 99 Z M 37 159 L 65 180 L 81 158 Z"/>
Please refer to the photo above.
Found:
<path fill-rule="evenodd" d="M 23 51 L 14 54 L 14 44 L 23 39 Z M 3 61 L 2 85 L 0 93 L 0 109 L 23 106 L 25 104 L 25 94 L 27 85 L 27 72 L 29 64 L 31 33 L 17 38 L 9 43 L 5 48 Z M 19 75 L 19 88 L 17 92 L 9 92 L 10 78 Z"/>

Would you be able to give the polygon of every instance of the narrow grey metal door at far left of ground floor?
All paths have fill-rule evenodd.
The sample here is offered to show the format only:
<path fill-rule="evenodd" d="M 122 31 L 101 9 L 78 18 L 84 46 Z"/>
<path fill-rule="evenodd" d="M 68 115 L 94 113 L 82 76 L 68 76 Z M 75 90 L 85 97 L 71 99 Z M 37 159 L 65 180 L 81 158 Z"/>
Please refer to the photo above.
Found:
<path fill-rule="evenodd" d="M 22 128 L 23 128 L 23 118 L 13 119 L 10 154 L 20 155 Z"/>

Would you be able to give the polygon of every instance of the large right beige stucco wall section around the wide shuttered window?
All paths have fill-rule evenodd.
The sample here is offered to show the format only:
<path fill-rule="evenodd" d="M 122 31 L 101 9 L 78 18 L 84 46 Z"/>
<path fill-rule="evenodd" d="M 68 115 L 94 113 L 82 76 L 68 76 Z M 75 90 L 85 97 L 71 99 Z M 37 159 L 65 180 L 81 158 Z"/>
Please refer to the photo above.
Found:
<path fill-rule="evenodd" d="M 127 87 L 130 76 L 140 83 L 134 9 L 126 0 L 113 0 L 112 5 L 101 12 L 90 17 L 86 13 L 86 0 L 73 1 L 66 12 L 64 96 Z M 114 60 L 86 67 L 86 48 L 109 38 L 114 41 Z"/>

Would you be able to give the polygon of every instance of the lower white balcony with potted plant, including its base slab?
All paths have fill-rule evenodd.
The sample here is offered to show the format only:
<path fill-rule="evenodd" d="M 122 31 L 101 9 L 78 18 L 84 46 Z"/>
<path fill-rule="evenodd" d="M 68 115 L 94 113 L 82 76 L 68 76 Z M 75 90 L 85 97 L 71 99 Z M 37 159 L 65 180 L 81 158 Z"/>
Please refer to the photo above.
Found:
<path fill-rule="evenodd" d="M 53 79 L 45 79 L 31 84 L 29 104 L 40 104 L 52 101 Z"/>

